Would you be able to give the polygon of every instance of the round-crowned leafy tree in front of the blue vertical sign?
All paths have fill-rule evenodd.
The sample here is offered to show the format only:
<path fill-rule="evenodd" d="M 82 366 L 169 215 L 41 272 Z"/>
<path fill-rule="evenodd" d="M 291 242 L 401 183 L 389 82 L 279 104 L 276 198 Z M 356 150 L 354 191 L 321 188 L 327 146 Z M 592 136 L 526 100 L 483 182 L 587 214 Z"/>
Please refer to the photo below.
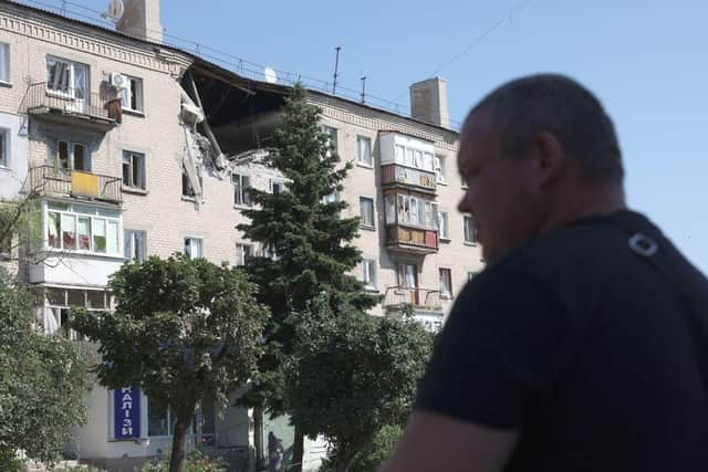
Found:
<path fill-rule="evenodd" d="M 175 412 L 169 470 L 184 471 L 197 406 L 226 401 L 253 375 L 268 308 L 243 271 L 183 254 L 124 264 L 108 285 L 115 312 L 76 310 L 72 327 L 98 343 L 102 385 L 140 388 Z"/>

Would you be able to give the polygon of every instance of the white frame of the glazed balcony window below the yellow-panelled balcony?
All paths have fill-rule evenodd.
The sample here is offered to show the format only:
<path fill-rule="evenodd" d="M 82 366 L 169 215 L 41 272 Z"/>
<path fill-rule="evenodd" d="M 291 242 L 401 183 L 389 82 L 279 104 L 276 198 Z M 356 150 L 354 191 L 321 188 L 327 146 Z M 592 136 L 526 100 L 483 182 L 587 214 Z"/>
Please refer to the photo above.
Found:
<path fill-rule="evenodd" d="M 69 203 L 59 203 L 65 206 L 65 209 L 50 208 L 50 202 L 44 203 L 44 250 L 45 251 L 71 251 L 76 254 L 91 254 L 91 255 L 101 255 L 108 258 L 121 258 L 124 259 L 124 247 L 122 244 L 123 239 L 123 222 L 121 217 L 111 217 L 105 214 L 100 214 L 102 209 L 92 208 L 83 204 L 69 204 Z M 76 208 L 91 208 L 93 212 L 85 212 L 76 210 Z M 59 245 L 54 247 L 50 244 L 50 213 L 55 213 L 59 216 L 59 234 L 56 234 L 56 239 Z M 74 239 L 75 239 L 75 248 L 64 248 L 64 237 L 62 231 L 62 221 L 64 218 L 72 218 L 74 223 Z M 79 218 L 88 218 L 88 249 L 79 249 L 80 248 L 80 234 L 79 234 Z M 104 231 L 105 231 L 105 252 L 97 251 L 95 248 L 95 235 L 96 230 L 98 229 L 98 223 L 103 222 Z M 108 228 L 111 225 L 116 225 L 116 248 L 108 247 Z M 113 249 L 114 251 L 108 251 L 108 249 Z"/>

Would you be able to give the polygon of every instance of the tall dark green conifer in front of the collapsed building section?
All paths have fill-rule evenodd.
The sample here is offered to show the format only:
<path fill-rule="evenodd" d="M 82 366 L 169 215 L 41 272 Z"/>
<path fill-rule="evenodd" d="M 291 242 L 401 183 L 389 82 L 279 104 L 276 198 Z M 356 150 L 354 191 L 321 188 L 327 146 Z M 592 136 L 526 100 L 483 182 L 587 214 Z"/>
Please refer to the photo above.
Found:
<path fill-rule="evenodd" d="M 292 353 L 294 326 L 308 304 L 327 293 L 330 313 L 335 316 L 350 308 L 368 308 L 379 300 L 350 274 L 361 261 L 361 252 L 352 244 L 360 220 L 342 218 L 346 202 L 325 198 L 342 191 L 352 164 L 341 165 L 319 116 L 320 109 L 306 103 L 305 90 L 295 85 L 274 134 L 275 151 L 266 161 L 282 172 L 288 189 L 281 193 L 251 190 L 256 208 L 243 212 L 250 222 L 238 227 L 248 239 L 275 254 L 270 259 L 251 258 L 247 263 L 260 286 L 259 300 L 273 314 L 266 329 L 267 355 L 243 399 L 257 407 L 258 422 L 260 408 L 272 415 L 289 411 L 282 365 Z M 293 469 L 300 470 L 303 434 L 296 421 L 294 427 Z"/>

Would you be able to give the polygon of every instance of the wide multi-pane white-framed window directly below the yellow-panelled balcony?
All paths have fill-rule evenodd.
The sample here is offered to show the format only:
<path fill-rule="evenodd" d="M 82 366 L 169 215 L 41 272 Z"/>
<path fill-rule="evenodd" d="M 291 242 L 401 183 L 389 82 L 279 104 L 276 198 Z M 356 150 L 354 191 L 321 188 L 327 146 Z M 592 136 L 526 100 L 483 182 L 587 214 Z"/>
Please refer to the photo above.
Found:
<path fill-rule="evenodd" d="M 64 251 L 121 255 L 119 213 L 81 204 L 48 203 L 48 247 Z"/>

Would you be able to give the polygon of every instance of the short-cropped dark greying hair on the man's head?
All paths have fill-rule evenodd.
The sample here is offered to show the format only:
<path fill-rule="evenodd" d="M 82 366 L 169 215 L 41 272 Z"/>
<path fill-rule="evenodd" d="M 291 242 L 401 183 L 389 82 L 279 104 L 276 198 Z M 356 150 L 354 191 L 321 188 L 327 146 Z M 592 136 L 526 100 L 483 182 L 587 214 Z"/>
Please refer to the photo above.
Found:
<path fill-rule="evenodd" d="M 487 95 L 470 115 L 481 108 L 491 111 L 510 155 L 520 155 L 539 132 L 548 132 L 582 162 L 587 181 L 622 182 L 622 151 L 612 119 L 574 80 L 559 74 L 517 78 Z"/>

